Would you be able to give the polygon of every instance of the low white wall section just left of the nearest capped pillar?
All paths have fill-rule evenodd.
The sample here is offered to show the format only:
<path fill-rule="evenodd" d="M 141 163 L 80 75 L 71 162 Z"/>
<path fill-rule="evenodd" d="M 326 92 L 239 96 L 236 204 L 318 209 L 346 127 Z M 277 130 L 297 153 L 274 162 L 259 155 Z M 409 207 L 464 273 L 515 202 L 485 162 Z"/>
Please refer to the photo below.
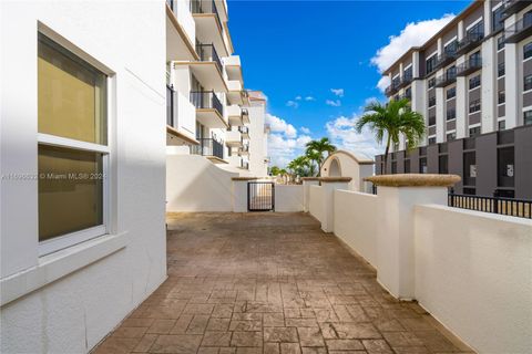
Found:
<path fill-rule="evenodd" d="M 335 233 L 371 266 L 377 266 L 377 201 L 369 194 L 335 190 Z"/>

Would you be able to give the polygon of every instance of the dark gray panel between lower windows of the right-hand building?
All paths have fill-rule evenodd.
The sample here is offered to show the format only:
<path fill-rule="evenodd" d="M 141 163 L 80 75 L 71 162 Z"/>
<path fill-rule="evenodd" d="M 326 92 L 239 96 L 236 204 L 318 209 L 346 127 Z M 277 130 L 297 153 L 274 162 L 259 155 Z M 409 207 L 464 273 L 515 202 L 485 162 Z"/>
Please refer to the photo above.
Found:
<path fill-rule="evenodd" d="M 492 196 L 497 189 L 497 133 L 480 135 L 477 149 L 477 195 Z"/>

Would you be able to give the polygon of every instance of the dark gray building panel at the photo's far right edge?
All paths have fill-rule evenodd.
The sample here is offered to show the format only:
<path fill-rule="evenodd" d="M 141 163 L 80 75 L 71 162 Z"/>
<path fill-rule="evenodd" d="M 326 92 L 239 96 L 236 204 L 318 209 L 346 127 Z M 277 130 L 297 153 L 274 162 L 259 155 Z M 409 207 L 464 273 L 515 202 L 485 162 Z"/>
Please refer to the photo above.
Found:
<path fill-rule="evenodd" d="M 514 131 L 515 198 L 532 199 L 532 126 Z"/>

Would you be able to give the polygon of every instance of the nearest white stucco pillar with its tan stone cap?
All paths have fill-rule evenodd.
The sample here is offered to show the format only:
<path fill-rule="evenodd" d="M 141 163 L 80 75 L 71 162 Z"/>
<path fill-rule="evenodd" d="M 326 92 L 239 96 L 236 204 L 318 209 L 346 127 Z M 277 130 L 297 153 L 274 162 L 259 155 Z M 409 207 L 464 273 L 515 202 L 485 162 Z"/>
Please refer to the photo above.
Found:
<path fill-rule="evenodd" d="M 388 175 L 366 178 L 378 186 L 378 210 L 386 222 L 377 222 L 377 280 L 398 299 L 415 298 L 415 207 L 447 206 L 447 188 L 456 175 Z"/>

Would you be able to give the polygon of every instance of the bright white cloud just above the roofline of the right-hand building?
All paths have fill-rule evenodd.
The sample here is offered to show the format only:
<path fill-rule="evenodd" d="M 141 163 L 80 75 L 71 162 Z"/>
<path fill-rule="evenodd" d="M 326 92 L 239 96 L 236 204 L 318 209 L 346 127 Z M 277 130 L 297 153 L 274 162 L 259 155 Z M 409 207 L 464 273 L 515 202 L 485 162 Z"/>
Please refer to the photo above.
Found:
<path fill-rule="evenodd" d="M 371 58 L 371 64 L 376 65 L 380 73 L 383 72 L 410 48 L 427 42 L 453 18 L 454 14 L 448 13 L 440 19 L 408 23 L 399 35 L 391 35 L 389 43 L 377 51 L 375 56 Z M 377 87 L 383 92 L 389 84 L 388 77 L 381 77 L 377 83 Z"/>

